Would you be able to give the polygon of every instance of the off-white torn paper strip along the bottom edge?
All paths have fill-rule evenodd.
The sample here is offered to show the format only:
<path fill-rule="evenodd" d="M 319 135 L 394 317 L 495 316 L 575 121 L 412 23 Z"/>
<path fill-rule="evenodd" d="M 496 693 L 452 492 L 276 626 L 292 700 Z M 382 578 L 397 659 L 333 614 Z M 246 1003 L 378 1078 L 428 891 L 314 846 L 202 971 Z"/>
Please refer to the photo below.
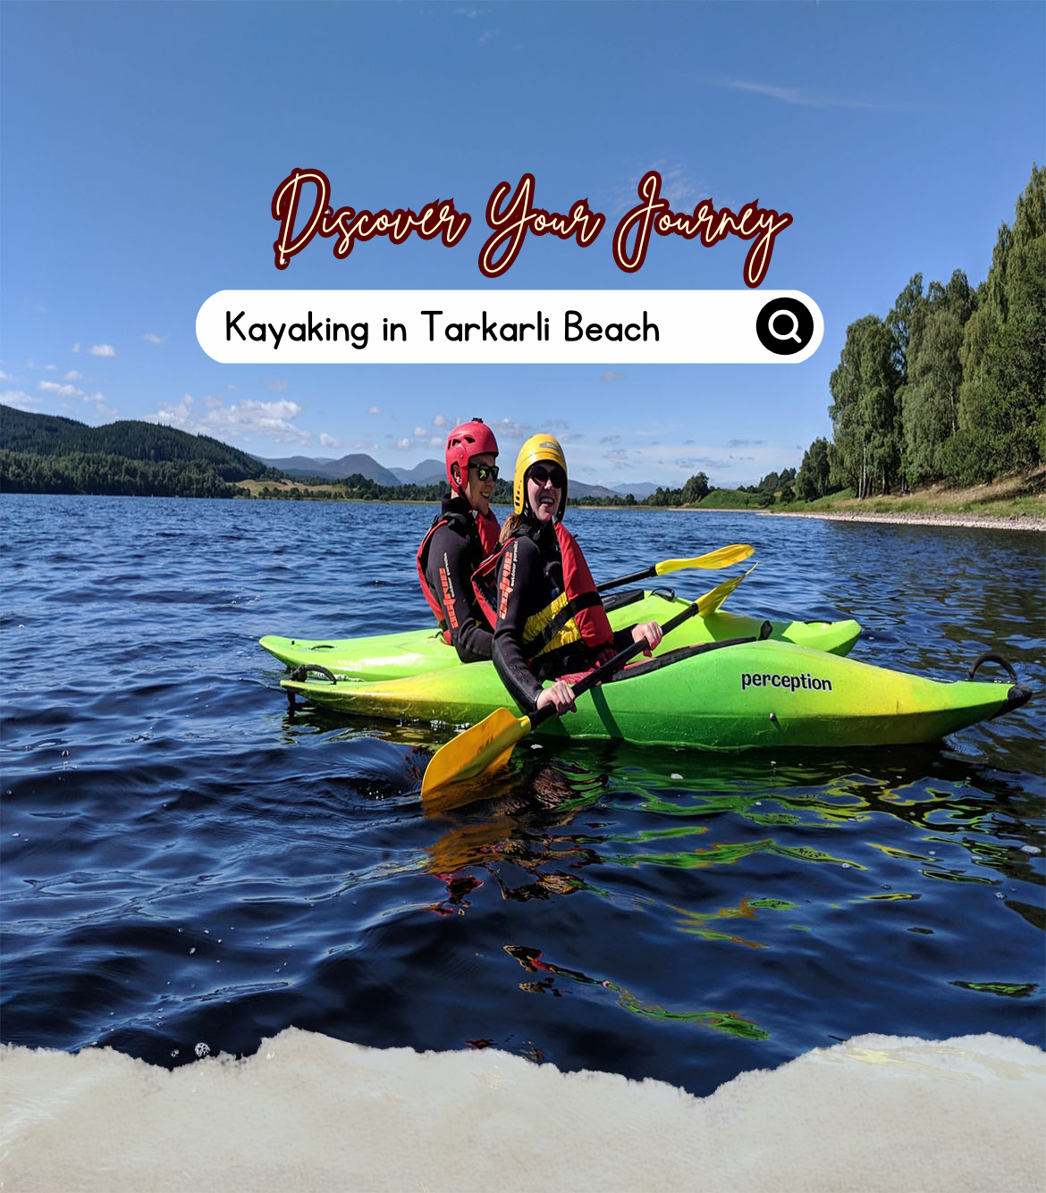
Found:
<path fill-rule="evenodd" d="M 494 1050 L 288 1028 L 173 1071 L 0 1051 L 4 1193 L 1044 1188 L 1046 1052 L 862 1036 L 708 1098 Z"/>

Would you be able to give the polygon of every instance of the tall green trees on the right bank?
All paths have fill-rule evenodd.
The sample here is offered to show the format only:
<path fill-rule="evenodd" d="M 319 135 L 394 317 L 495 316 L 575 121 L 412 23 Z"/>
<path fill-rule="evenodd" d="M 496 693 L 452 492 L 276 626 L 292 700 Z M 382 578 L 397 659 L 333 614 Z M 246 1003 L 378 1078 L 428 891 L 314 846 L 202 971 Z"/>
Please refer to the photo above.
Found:
<path fill-rule="evenodd" d="M 911 277 L 885 319 L 847 328 L 830 379 L 832 439 L 816 439 L 795 477 L 811 501 L 942 481 L 991 481 L 1046 457 L 1046 169 L 999 228 L 987 278 Z"/>

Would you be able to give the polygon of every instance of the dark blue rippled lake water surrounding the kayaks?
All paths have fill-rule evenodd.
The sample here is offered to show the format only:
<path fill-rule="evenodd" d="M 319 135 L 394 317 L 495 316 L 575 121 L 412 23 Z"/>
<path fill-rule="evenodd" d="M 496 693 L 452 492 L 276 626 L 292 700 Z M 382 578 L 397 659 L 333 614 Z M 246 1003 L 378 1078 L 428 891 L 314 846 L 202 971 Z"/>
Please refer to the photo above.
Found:
<path fill-rule="evenodd" d="M 257 645 L 426 624 L 430 517 L 0 497 L 5 1040 L 177 1065 L 295 1025 L 697 1094 L 862 1032 L 1046 1043 L 1041 534 L 571 511 L 597 579 L 751 542 L 730 608 L 937 679 L 1002 650 L 1035 696 L 917 749 L 528 742 L 435 817 L 438 733 L 291 717 Z"/>

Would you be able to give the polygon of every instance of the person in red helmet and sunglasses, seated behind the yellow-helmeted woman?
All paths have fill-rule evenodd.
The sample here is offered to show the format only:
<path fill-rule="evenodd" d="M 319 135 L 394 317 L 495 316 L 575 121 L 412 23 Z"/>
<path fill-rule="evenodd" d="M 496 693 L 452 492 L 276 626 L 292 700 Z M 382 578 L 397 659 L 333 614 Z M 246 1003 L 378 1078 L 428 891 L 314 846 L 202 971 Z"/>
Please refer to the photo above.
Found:
<path fill-rule="evenodd" d="M 493 625 L 478 605 L 472 574 L 498 549 L 491 496 L 498 478 L 498 440 L 482 419 L 447 437 L 450 493 L 418 548 L 418 580 L 445 641 L 463 663 L 491 657 Z"/>

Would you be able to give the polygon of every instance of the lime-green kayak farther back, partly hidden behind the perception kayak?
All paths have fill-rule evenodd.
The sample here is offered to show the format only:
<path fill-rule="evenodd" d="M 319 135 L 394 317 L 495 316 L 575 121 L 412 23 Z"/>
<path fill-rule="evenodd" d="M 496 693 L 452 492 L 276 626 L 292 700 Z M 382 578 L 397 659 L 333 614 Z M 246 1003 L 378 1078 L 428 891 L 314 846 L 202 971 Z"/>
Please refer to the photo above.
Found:
<path fill-rule="evenodd" d="M 678 596 L 639 591 L 619 593 L 605 601 L 610 624 L 615 630 L 636 622 L 664 624 L 688 604 L 689 601 Z M 678 631 L 670 635 L 670 641 L 666 639 L 659 650 L 664 653 L 675 647 L 755 637 L 762 624 L 762 618 L 739 617 L 719 608 L 706 617 L 690 618 Z M 861 626 L 853 620 L 770 622 L 770 625 L 774 638 L 837 655 L 844 655 L 853 649 L 861 632 Z M 260 645 L 288 667 L 319 663 L 336 675 L 349 675 L 353 679 L 404 679 L 424 672 L 461 670 L 463 666 L 457 659 L 457 651 L 443 641 L 443 636 L 435 628 L 333 641 L 281 638 L 267 635 L 260 639 Z M 474 667 L 481 666 L 484 665 L 470 663 L 469 673 Z"/>

